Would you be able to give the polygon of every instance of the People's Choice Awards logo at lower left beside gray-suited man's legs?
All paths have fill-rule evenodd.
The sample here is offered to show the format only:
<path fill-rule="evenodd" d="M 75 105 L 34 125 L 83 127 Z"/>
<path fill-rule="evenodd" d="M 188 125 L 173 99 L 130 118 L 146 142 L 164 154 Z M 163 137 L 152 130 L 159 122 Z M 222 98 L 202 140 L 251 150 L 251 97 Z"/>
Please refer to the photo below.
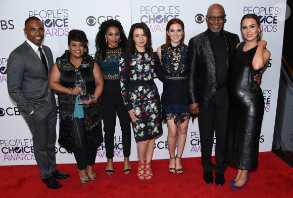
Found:
<path fill-rule="evenodd" d="M 35 160 L 32 139 L 0 140 L 1 161 Z"/>

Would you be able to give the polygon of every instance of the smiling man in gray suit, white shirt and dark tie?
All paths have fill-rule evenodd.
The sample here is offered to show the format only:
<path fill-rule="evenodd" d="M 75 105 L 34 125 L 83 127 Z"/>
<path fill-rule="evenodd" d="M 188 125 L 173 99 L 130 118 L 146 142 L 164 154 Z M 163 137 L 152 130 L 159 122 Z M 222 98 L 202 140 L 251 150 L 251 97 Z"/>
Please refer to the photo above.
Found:
<path fill-rule="evenodd" d="M 50 48 L 42 45 L 44 28 L 37 17 L 25 21 L 27 40 L 17 47 L 7 62 L 7 85 L 32 133 L 35 159 L 40 177 L 48 188 L 61 185 L 56 179 L 68 174 L 55 169 L 57 107 L 48 74 L 54 64 Z"/>

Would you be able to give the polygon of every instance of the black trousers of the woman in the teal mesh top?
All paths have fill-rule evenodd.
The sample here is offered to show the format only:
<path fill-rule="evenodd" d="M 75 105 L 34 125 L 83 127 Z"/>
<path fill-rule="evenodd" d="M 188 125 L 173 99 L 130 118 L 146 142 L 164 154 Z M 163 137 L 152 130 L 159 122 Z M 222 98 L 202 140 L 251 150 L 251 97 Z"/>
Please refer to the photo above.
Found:
<path fill-rule="evenodd" d="M 119 80 L 105 80 L 104 91 L 101 97 L 102 116 L 104 124 L 104 140 L 106 156 L 112 159 L 114 156 L 114 133 L 116 126 L 116 113 L 122 131 L 122 146 L 124 157 L 129 157 L 131 146 L 131 126 L 129 113 L 126 110 L 120 90 Z"/>

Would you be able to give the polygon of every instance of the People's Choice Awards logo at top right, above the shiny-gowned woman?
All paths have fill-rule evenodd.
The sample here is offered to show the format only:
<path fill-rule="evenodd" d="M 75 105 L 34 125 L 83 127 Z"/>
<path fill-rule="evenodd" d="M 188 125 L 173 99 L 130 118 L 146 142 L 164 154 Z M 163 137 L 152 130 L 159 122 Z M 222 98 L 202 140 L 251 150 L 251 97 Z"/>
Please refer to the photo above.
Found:
<path fill-rule="evenodd" d="M 243 14 L 256 14 L 260 18 L 261 28 L 263 32 L 276 32 L 278 30 L 278 22 L 283 21 L 285 9 L 278 4 L 274 7 L 243 7 Z"/>

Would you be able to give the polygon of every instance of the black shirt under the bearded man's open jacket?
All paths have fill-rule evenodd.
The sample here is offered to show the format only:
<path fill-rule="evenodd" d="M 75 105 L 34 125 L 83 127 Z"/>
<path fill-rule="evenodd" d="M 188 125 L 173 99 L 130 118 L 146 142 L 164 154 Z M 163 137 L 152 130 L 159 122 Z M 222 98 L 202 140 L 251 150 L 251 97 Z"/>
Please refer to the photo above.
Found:
<path fill-rule="evenodd" d="M 224 30 L 222 29 L 218 35 L 210 29 L 208 29 L 208 32 L 217 69 L 217 86 L 225 86 L 228 52 L 224 37 Z"/>

